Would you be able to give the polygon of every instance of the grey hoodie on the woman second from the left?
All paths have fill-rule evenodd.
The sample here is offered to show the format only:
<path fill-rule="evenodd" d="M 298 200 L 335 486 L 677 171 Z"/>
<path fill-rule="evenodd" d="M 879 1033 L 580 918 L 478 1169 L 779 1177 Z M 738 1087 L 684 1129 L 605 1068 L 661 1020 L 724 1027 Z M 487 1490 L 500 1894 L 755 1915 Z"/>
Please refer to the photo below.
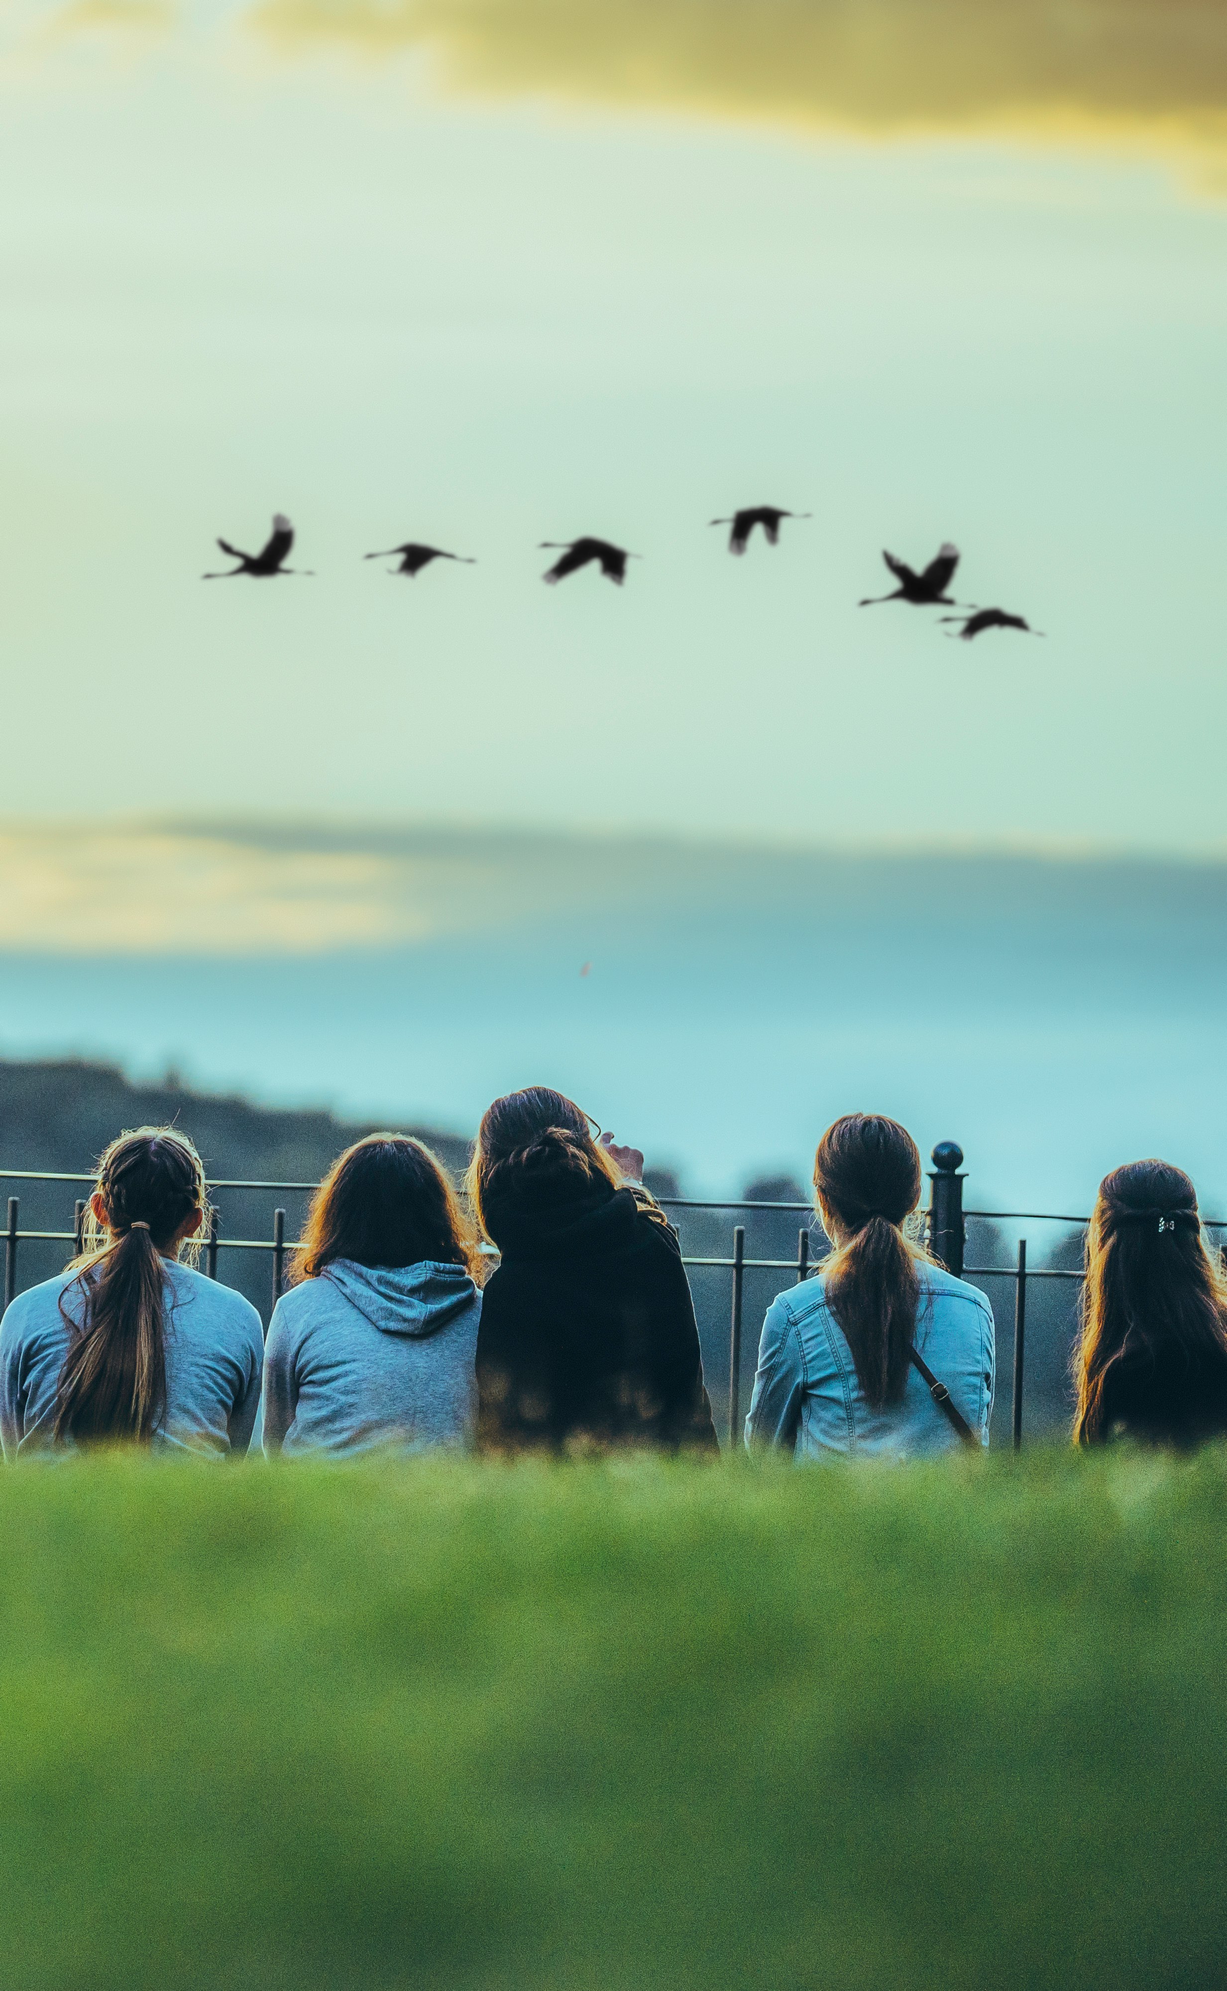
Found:
<path fill-rule="evenodd" d="M 458 1264 L 333 1260 L 273 1308 L 265 1451 L 472 1443 L 480 1312 Z"/>

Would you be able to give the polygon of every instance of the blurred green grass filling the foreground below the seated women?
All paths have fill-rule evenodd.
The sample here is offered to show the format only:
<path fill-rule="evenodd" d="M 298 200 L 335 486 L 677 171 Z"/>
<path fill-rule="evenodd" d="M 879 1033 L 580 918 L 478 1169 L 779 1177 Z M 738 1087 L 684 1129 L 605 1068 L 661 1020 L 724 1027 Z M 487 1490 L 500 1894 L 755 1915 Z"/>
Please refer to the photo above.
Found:
<path fill-rule="evenodd" d="M 12 1991 L 1197 1987 L 1227 1453 L 0 1475 Z"/>

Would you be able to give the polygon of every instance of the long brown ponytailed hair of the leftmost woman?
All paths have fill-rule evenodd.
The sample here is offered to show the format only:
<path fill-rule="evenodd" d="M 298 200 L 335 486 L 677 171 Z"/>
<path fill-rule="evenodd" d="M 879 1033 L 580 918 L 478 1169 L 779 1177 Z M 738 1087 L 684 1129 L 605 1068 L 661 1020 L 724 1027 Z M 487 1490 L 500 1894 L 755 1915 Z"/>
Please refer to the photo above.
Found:
<path fill-rule="evenodd" d="M 165 1410 L 163 1254 L 207 1213 L 201 1159 L 175 1127 L 137 1127 L 98 1165 L 86 1250 L 60 1294 L 70 1348 L 56 1390 L 56 1438 L 149 1443 Z M 80 1294 L 80 1320 L 68 1296 Z"/>

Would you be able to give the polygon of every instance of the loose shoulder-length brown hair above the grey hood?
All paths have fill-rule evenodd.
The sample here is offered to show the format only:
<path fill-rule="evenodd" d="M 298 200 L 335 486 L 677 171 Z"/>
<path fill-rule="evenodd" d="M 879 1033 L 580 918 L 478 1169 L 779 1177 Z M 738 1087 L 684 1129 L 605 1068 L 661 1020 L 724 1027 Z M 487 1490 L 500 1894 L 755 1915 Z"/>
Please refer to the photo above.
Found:
<path fill-rule="evenodd" d="M 339 1155 L 311 1199 L 291 1280 L 337 1258 L 367 1266 L 432 1260 L 480 1278 L 472 1224 L 436 1155 L 406 1133 L 368 1133 Z"/>

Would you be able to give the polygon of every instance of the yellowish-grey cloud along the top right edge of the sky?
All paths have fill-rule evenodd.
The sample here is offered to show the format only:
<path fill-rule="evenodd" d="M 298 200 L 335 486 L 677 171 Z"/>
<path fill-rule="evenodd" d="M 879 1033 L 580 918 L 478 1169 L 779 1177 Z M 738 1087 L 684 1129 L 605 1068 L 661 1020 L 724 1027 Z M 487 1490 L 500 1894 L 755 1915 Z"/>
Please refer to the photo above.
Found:
<path fill-rule="evenodd" d="M 434 50 L 470 86 L 870 133 L 1227 143 L 1223 0 L 261 0 L 287 44 Z"/>

